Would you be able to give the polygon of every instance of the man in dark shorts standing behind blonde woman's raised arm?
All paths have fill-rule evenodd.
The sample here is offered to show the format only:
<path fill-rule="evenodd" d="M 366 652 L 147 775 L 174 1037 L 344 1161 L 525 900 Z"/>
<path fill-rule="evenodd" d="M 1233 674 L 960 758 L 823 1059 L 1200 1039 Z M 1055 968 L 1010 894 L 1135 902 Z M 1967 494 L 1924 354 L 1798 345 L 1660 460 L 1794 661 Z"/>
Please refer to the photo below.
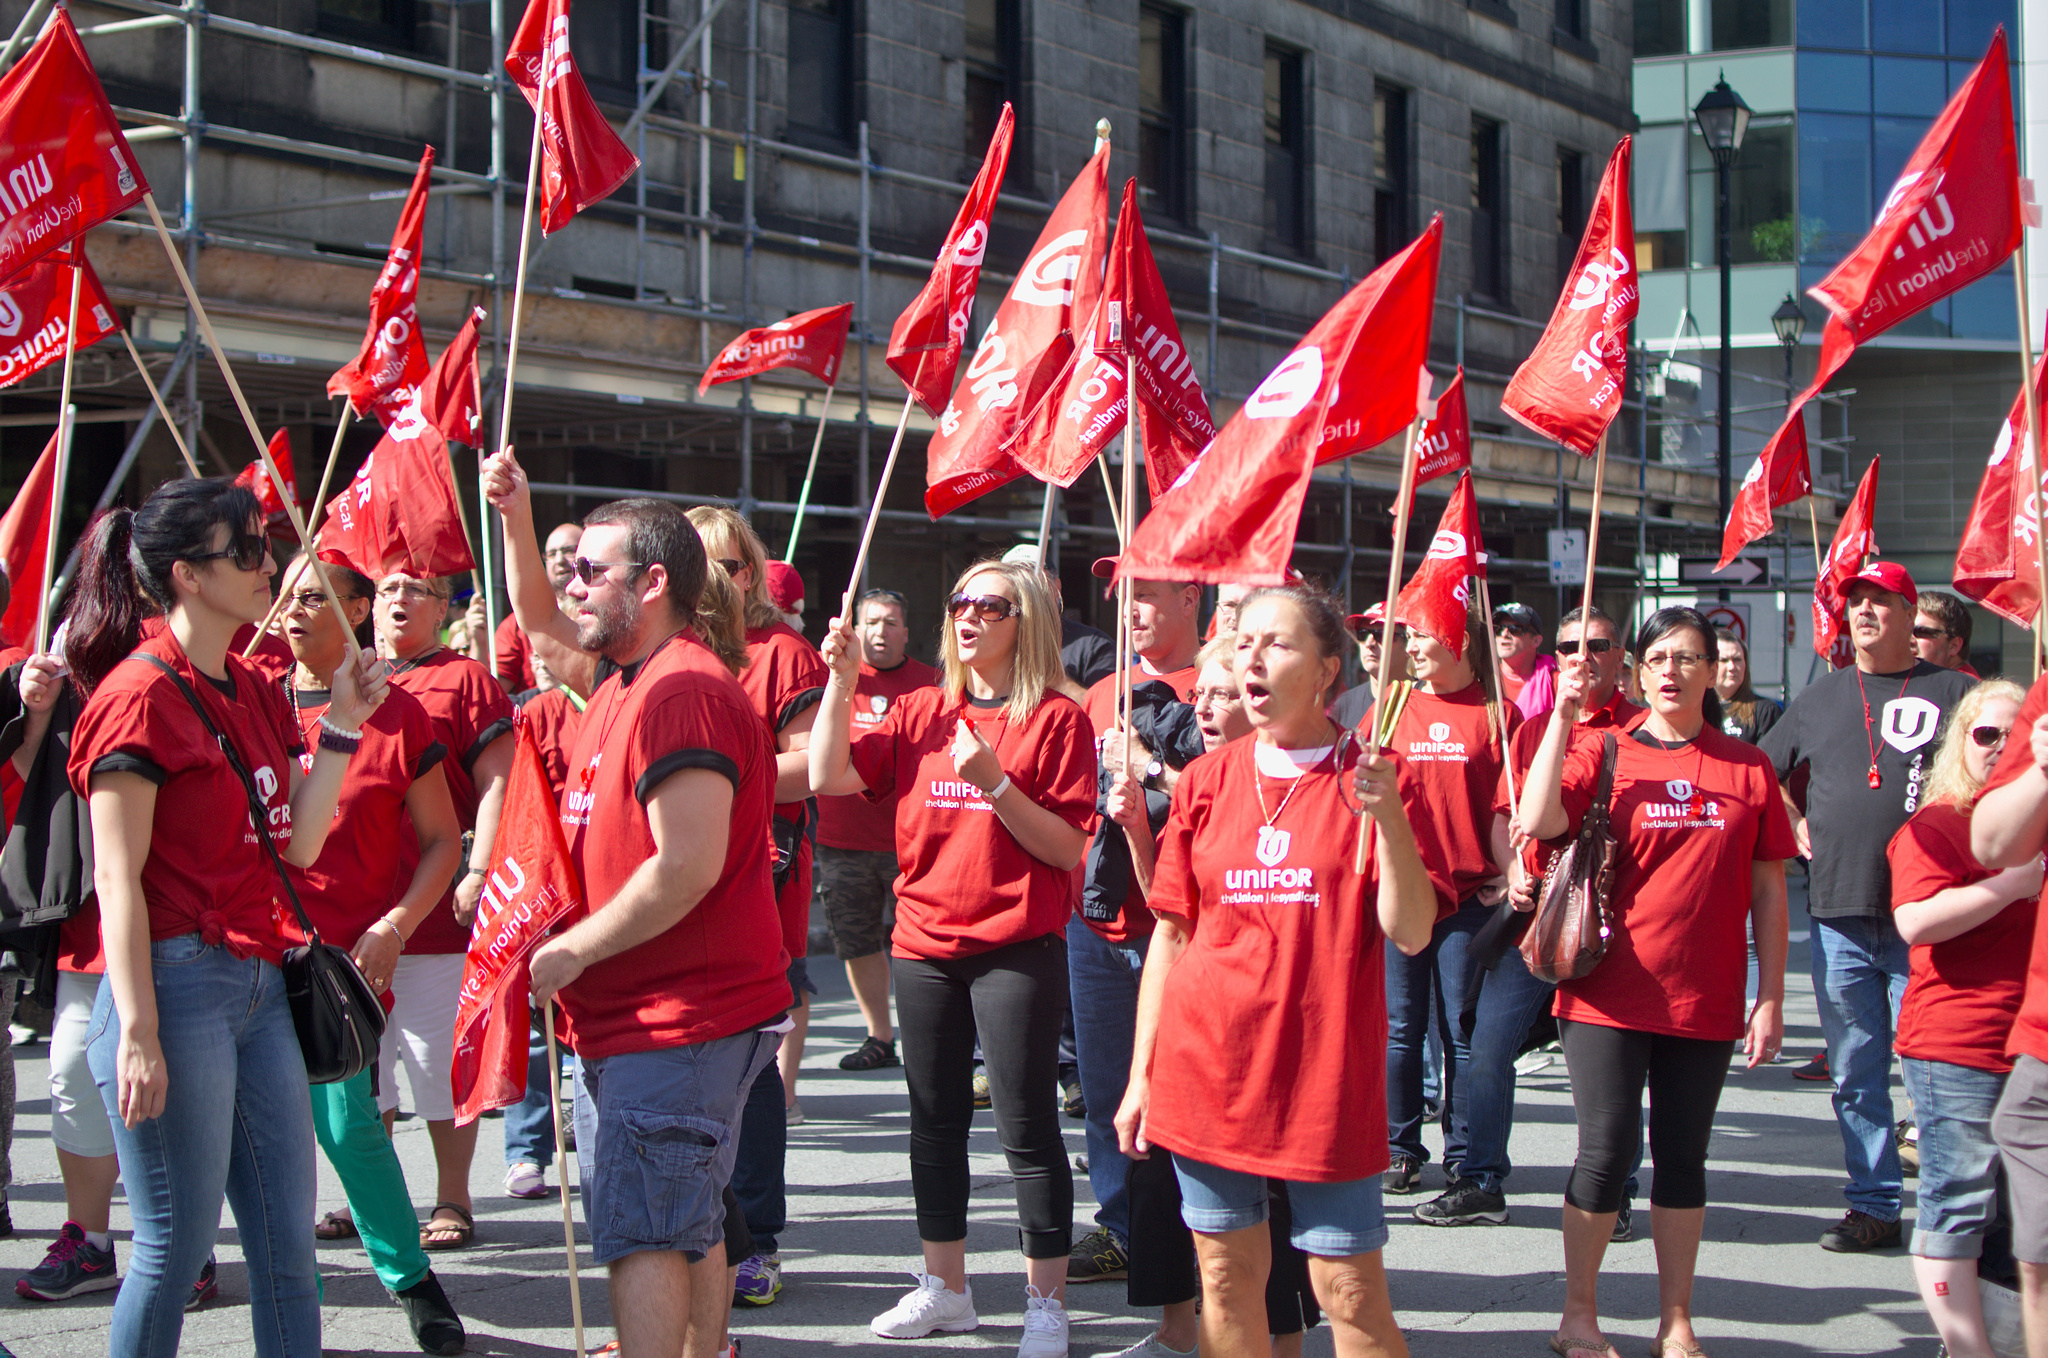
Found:
<path fill-rule="evenodd" d="M 860 678 L 854 684 L 854 737 L 883 723 L 907 692 L 930 688 L 938 670 L 911 660 L 903 596 L 868 590 L 854 604 Z M 895 914 L 895 809 L 901 795 L 817 799 L 817 895 L 825 905 L 831 950 L 846 963 L 868 1036 L 840 1057 L 842 1071 L 901 1065 L 889 1020 L 889 916 Z"/>

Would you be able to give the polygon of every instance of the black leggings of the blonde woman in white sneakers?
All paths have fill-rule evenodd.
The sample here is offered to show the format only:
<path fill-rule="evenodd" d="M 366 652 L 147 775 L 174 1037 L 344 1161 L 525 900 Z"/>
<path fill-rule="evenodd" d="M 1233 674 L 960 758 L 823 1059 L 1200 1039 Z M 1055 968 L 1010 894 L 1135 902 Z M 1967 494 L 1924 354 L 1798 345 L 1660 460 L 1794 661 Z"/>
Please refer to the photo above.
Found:
<path fill-rule="evenodd" d="M 918 1239 L 967 1239 L 967 1135 L 981 1034 L 995 1135 L 1018 1186 L 1024 1256 L 1073 1247 L 1073 1172 L 1059 1139 L 1059 1028 L 1067 940 L 1059 934 L 954 959 L 897 959 L 897 1032 L 909 1084 L 909 1184 Z"/>

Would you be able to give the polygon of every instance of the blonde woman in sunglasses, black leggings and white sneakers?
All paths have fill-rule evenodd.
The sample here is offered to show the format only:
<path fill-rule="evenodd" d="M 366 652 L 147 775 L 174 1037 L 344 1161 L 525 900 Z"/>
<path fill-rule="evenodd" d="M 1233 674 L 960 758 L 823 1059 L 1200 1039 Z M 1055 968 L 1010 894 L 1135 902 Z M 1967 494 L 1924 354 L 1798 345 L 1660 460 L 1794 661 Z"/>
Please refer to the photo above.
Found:
<path fill-rule="evenodd" d="M 825 637 L 831 680 L 811 729 L 811 791 L 899 795 L 897 1028 L 924 1270 L 874 1317 L 885 1340 L 973 1329 L 967 1135 L 975 1034 L 1024 1235 L 1024 1358 L 1067 1352 L 1073 1172 L 1059 1137 L 1067 918 L 1096 811 L 1096 735 L 1059 692 L 1059 608 L 1032 565 L 961 576 L 940 635 L 944 680 L 850 739 L 860 643 Z"/>

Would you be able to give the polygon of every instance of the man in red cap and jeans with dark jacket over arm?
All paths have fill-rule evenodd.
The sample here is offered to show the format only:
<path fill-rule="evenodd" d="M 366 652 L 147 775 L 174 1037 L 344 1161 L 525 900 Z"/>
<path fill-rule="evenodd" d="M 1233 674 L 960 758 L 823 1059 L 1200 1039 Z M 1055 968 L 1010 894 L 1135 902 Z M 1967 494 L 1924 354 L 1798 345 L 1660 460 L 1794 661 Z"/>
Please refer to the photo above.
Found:
<path fill-rule="evenodd" d="M 1116 557 L 1094 565 L 1096 576 L 1116 574 Z M 1130 682 L 1163 682 L 1182 703 L 1194 701 L 1202 649 L 1202 586 L 1182 580 L 1135 580 L 1130 584 Z M 1104 768 L 1124 760 L 1116 729 L 1116 674 L 1096 682 L 1081 705 L 1096 727 L 1096 754 Z M 1171 791 L 1180 770 L 1130 741 L 1128 756 L 1153 791 Z M 1157 830 L 1159 825 L 1153 825 Z M 1122 848 L 1122 832 L 1108 827 Z M 1122 1278 L 1130 1245 L 1130 1161 L 1116 1147 L 1116 1106 L 1130 1084 L 1130 1045 L 1139 1022 L 1139 975 L 1153 916 L 1145 893 L 1130 881 L 1126 854 L 1090 854 L 1098 873 L 1122 868 L 1122 909 L 1112 920 L 1090 920 L 1075 911 L 1067 922 L 1067 985 L 1073 1002 L 1073 1049 L 1079 1057 L 1081 1102 L 1087 1106 L 1087 1182 L 1096 1190 L 1096 1229 L 1075 1241 L 1067 1258 L 1067 1282 Z M 1104 883 L 1083 883 L 1083 893 L 1102 895 Z M 1110 907 L 1114 899 L 1106 901 Z"/>

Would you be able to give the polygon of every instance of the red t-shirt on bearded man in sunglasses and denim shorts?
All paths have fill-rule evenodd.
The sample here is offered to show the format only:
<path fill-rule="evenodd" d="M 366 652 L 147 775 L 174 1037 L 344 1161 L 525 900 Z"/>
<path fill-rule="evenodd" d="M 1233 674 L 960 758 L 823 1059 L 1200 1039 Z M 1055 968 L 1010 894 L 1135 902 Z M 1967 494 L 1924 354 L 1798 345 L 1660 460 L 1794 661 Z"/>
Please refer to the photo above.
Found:
<path fill-rule="evenodd" d="M 717 885 L 666 932 L 588 967 L 561 991 L 582 1057 L 731 1036 L 788 1010 L 788 954 L 774 930 L 768 817 L 774 750 L 717 655 L 678 633 L 598 686 L 575 729 L 561 825 L 590 914 L 653 856 L 645 799 L 684 768 L 733 784 Z"/>

